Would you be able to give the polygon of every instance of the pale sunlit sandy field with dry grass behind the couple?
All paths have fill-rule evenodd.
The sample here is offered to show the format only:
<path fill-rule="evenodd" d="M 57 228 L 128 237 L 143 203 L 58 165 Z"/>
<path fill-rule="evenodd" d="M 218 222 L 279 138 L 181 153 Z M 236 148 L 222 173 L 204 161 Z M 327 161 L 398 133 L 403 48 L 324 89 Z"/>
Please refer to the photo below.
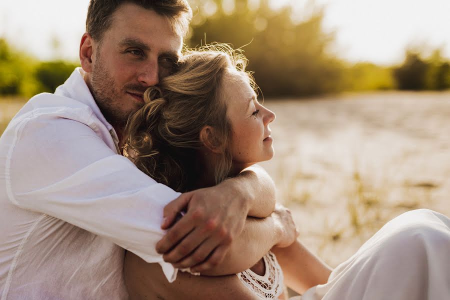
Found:
<path fill-rule="evenodd" d="M 0 132 L 24 100 L 0 99 Z M 331 266 L 392 217 L 450 215 L 450 92 L 266 100 L 275 157 L 262 165 L 300 239 Z"/>

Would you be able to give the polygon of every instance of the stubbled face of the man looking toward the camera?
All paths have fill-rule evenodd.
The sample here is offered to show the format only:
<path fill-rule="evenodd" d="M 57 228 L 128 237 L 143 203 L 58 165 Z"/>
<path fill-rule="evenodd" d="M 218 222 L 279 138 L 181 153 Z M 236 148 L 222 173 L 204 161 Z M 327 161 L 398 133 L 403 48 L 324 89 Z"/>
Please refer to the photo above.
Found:
<path fill-rule="evenodd" d="M 170 72 L 182 37 L 169 20 L 131 3 L 121 5 L 102 40 L 93 43 L 87 80 L 105 118 L 121 127 L 144 104 L 142 94 Z"/>

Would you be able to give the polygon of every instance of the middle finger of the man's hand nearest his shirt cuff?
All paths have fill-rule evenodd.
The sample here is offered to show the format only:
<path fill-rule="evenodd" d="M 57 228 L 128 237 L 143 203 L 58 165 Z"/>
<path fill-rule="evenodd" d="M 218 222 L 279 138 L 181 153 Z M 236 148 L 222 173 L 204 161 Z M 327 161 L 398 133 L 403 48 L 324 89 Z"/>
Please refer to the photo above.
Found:
<path fill-rule="evenodd" d="M 190 253 L 192 253 L 195 248 L 197 248 L 206 238 L 208 238 L 208 235 L 205 234 L 204 230 L 195 228 L 184 236 L 181 242 L 179 242 L 173 249 L 165 253 L 162 258 L 164 258 L 164 261 L 166 262 L 176 263 L 184 257 L 189 256 Z M 175 267 L 179 268 L 184 266 Z"/>

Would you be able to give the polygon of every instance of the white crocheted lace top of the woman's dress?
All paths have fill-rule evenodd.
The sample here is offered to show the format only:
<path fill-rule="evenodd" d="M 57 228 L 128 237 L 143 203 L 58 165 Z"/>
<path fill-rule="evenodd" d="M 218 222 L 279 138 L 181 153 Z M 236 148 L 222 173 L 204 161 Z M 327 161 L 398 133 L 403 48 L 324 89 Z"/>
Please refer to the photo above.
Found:
<path fill-rule="evenodd" d="M 278 299 L 283 292 L 283 272 L 272 252 L 262 257 L 265 264 L 265 274 L 258 275 L 250 269 L 237 273 L 242 284 L 248 287 L 261 299 Z"/>

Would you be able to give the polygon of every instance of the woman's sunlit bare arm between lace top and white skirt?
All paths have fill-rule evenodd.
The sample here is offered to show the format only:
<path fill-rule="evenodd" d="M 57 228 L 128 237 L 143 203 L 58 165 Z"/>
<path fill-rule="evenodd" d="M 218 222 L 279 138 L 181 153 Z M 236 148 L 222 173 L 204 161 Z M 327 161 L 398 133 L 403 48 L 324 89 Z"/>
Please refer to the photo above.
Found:
<path fill-rule="evenodd" d="M 328 281 L 331 268 L 296 240 L 285 248 L 273 247 L 284 274 L 284 282 L 298 293 Z"/>

